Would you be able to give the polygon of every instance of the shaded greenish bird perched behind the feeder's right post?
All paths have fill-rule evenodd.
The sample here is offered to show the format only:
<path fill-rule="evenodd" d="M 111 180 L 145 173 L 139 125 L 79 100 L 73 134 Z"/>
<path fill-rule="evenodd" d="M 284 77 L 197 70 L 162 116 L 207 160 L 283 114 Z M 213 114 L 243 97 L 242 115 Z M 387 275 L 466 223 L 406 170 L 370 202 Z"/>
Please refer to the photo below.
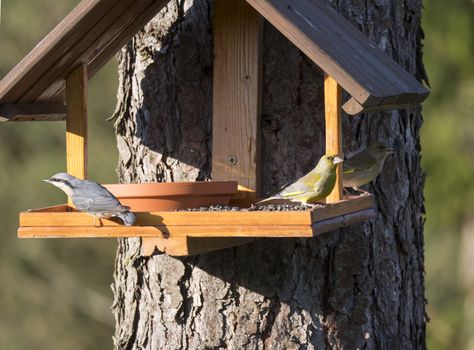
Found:
<path fill-rule="evenodd" d="M 381 143 L 374 143 L 346 159 L 342 172 L 343 186 L 352 187 L 358 191 L 359 187 L 374 181 L 381 173 L 387 156 L 393 153 L 395 153 L 393 148 L 388 148 Z"/>

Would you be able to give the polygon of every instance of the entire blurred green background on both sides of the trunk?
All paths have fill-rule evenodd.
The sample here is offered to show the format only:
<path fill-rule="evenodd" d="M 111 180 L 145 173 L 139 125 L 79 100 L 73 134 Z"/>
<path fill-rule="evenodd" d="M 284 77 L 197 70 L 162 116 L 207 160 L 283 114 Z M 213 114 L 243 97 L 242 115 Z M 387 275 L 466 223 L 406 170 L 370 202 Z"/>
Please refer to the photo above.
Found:
<path fill-rule="evenodd" d="M 78 0 L 4 0 L 0 78 Z M 426 294 L 430 349 L 474 349 L 474 4 L 425 0 Z M 89 176 L 115 182 L 116 62 L 89 88 Z M 112 346 L 115 240 L 22 240 L 18 212 L 65 202 L 40 179 L 65 169 L 64 123 L 0 125 L 0 349 Z"/>

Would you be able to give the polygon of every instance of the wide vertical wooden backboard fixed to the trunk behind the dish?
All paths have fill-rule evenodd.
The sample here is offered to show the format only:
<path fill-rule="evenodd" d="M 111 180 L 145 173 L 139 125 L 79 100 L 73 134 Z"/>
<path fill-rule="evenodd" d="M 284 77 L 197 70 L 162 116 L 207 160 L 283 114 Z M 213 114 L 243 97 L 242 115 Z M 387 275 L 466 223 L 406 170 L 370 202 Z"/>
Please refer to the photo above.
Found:
<path fill-rule="evenodd" d="M 213 180 L 259 191 L 262 19 L 244 0 L 214 6 Z"/>

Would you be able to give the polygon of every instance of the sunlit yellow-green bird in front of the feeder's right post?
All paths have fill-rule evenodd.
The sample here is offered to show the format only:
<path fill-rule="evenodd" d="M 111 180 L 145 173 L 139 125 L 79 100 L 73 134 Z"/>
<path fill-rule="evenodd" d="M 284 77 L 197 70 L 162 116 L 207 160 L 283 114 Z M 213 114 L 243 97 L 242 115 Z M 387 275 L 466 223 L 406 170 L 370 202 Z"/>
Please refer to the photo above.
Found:
<path fill-rule="evenodd" d="M 302 178 L 285 187 L 281 192 L 266 198 L 257 204 L 273 199 L 287 199 L 305 205 L 317 202 L 329 196 L 336 184 L 336 166 L 343 159 L 336 154 L 325 154 L 316 167 Z"/>

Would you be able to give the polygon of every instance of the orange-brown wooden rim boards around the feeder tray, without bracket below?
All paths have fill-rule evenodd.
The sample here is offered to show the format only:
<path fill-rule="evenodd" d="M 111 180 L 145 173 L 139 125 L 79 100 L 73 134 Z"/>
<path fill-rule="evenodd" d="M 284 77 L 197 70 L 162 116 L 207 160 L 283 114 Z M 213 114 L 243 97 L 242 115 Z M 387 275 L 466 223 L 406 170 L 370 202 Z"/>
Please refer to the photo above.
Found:
<path fill-rule="evenodd" d="M 310 237 L 314 223 L 372 208 L 372 196 L 302 211 L 137 212 L 134 226 L 98 220 L 66 205 L 20 213 L 20 238 L 49 237 Z M 71 211 L 68 211 L 71 210 Z"/>

